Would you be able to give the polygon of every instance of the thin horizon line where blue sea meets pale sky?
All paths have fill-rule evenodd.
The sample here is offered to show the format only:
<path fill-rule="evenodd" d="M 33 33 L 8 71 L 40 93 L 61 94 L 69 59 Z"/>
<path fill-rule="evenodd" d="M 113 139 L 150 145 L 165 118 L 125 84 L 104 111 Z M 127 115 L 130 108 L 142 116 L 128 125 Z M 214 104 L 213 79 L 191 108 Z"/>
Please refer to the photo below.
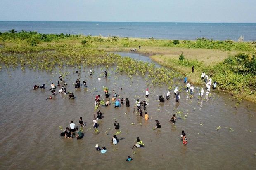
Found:
<path fill-rule="evenodd" d="M 22 20 L 0 20 L 22 21 Z M 116 22 L 116 23 L 256 23 L 256 22 L 143 22 L 143 21 L 25 21 L 25 22 Z"/>

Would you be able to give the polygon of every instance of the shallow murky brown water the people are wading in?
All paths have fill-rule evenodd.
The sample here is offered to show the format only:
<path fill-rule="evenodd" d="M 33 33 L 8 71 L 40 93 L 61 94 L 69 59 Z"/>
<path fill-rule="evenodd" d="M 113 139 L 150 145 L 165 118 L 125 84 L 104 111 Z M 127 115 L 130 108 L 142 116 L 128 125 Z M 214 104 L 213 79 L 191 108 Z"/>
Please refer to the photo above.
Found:
<path fill-rule="evenodd" d="M 133 57 L 143 59 L 143 56 Z M 64 94 L 57 94 L 52 100 L 45 100 L 51 95 L 48 91 L 50 84 L 47 83 L 57 84 L 59 70 L 51 75 L 50 72 L 33 71 L 28 68 L 25 72 L 22 72 L 21 68 L 14 71 L 2 69 L 0 72 L 2 91 L 0 169 L 255 169 L 256 105 L 254 103 L 242 101 L 235 109 L 237 99 L 228 94 L 215 94 L 211 91 L 214 100 L 213 96 L 206 100 L 198 100 L 197 95 L 190 99 L 181 92 L 179 104 L 175 103 L 172 95 L 170 100 L 161 103 L 158 107 L 159 95 L 166 96 L 167 93 L 165 85 L 162 88 L 150 88 L 147 87 L 145 78 L 133 76 L 131 82 L 124 73 L 115 74 L 110 68 L 107 72 L 110 72 L 111 76 L 107 79 L 101 77 L 102 79 L 98 81 L 97 73 L 101 73 L 100 68 L 100 66 L 93 68 L 95 74 L 92 78 L 88 78 L 90 68 L 84 70 L 82 68 L 81 83 L 85 80 L 88 87 L 81 86 L 77 91 L 73 86 L 73 82 L 78 78 L 73 71 L 77 69 L 66 70 L 71 72 L 71 75 L 66 76 L 68 79 L 65 81 L 69 84 L 66 87 L 67 90 L 74 92 L 75 100 L 68 100 L 68 96 Z M 115 67 L 113 68 L 115 70 Z M 34 84 L 46 84 L 46 89 L 33 90 Z M 138 96 L 141 100 L 145 98 L 145 92 L 142 90 L 149 88 L 147 112 L 152 119 L 145 121 L 144 117 L 133 114 L 133 107 L 126 108 L 122 105 L 121 108 L 114 108 L 111 104 L 109 107 L 100 108 L 104 113 L 104 119 L 98 121 L 100 133 L 95 134 L 93 129 L 87 130 L 92 128 L 95 96 L 98 94 L 104 96 L 103 86 L 109 88 L 111 95 L 114 90 L 121 98 L 129 98 L 132 106 L 135 105 Z M 120 88 L 123 88 L 123 91 L 120 91 Z M 58 90 L 59 87 L 56 92 Z M 182 110 L 183 114 L 177 116 L 176 124 L 169 123 L 171 115 Z M 183 119 L 185 115 L 187 119 Z M 78 125 L 80 116 L 87 124 L 83 128 L 85 133 L 83 139 L 71 140 L 60 137 L 59 126 L 64 130 L 69 127 L 71 120 Z M 117 135 L 119 143 L 115 147 L 110 143 L 112 136 L 117 132 L 114 129 L 114 118 L 119 122 L 121 131 L 121 134 Z M 156 119 L 160 121 L 161 129 L 152 130 L 156 126 Z M 138 123 L 142 123 L 142 126 Z M 218 126 L 221 128 L 216 132 Z M 105 135 L 106 130 L 107 135 Z M 187 146 L 180 141 L 181 130 L 185 130 L 187 134 Z M 131 149 L 137 136 L 145 147 Z M 96 144 L 106 147 L 107 153 L 96 151 Z M 133 151 L 136 151 L 132 156 L 133 161 L 125 161 Z"/>

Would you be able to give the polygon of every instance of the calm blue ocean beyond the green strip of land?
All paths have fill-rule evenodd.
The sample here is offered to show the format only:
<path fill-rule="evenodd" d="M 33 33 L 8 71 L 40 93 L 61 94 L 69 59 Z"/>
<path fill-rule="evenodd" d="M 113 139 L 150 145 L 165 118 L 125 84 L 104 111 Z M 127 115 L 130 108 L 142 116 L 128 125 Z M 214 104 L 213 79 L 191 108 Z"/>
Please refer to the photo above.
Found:
<path fill-rule="evenodd" d="M 0 32 L 15 29 L 18 32 L 64 33 L 83 35 L 119 35 L 156 39 L 195 40 L 206 37 L 213 40 L 256 40 L 256 23 L 146 23 L 146 22 L 49 22 L 49 21 L 0 21 Z"/>

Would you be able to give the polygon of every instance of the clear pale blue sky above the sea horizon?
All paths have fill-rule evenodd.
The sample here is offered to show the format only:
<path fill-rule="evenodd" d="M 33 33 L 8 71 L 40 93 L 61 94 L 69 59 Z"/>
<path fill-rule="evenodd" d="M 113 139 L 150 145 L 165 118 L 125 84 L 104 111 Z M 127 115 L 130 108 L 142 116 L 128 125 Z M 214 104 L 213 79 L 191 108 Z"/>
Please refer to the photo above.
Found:
<path fill-rule="evenodd" d="M 256 0 L 0 0 L 0 21 L 256 23 Z"/>

